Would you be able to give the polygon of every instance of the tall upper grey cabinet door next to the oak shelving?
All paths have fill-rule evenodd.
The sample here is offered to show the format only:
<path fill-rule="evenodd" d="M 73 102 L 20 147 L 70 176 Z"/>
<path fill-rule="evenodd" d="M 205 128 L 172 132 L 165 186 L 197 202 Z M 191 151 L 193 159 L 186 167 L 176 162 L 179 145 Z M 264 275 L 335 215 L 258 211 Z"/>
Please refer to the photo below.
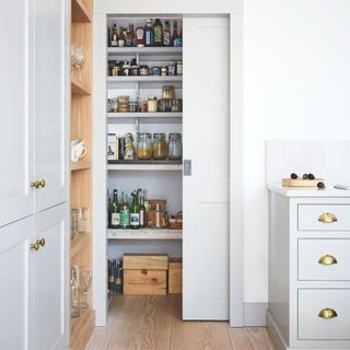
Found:
<path fill-rule="evenodd" d="M 67 200 L 68 1 L 35 0 L 35 211 Z"/>

